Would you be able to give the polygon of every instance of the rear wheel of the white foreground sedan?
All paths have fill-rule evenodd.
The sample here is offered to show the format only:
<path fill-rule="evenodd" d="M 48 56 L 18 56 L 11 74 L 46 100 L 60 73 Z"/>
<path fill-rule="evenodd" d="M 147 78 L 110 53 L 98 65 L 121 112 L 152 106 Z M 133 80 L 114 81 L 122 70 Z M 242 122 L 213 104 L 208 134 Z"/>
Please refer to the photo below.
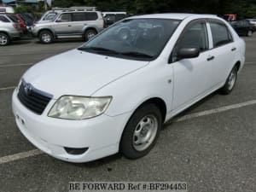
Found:
<path fill-rule="evenodd" d="M 233 69 L 231 70 L 230 75 L 226 80 L 226 83 L 220 89 L 220 92 L 223 95 L 229 95 L 231 93 L 231 91 L 234 89 L 234 87 L 236 85 L 236 80 L 237 80 L 237 71 L 238 71 L 237 66 L 233 67 Z"/>

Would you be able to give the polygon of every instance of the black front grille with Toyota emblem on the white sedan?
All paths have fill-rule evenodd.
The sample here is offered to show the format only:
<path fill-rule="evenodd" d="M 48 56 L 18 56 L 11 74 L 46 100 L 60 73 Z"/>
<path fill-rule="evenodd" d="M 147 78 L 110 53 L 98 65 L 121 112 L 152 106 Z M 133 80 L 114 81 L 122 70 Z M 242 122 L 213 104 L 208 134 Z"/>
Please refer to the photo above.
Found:
<path fill-rule="evenodd" d="M 20 102 L 32 112 L 42 114 L 52 96 L 22 82 L 18 93 Z"/>

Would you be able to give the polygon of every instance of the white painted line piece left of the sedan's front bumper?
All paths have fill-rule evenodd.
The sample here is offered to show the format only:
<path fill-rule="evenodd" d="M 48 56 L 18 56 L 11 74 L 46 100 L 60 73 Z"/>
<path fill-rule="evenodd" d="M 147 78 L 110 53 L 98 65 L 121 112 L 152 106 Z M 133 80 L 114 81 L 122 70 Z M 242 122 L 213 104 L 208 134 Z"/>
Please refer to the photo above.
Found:
<path fill-rule="evenodd" d="M 27 157 L 32 157 L 32 156 L 36 156 L 38 154 L 43 154 L 42 151 L 40 151 L 39 149 L 34 149 L 31 151 L 26 151 L 26 152 L 22 152 L 19 154 L 12 154 L 12 155 L 8 155 L 8 156 L 4 156 L 0 158 L 0 165 L 3 163 L 9 163 L 11 161 L 15 161 L 15 160 L 22 160 L 25 159 Z"/>

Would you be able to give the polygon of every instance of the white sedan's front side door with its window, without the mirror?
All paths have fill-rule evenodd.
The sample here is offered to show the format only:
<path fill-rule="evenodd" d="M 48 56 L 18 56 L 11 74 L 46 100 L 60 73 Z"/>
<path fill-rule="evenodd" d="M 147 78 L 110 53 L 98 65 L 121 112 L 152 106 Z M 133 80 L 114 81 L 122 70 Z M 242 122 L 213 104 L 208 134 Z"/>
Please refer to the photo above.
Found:
<path fill-rule="evenodd" d="M 198 48 L 200 55 L 196 58 L 177 58 L 177 50 L 182 48 Z M 205 20 L 196 20 L 185 27 L 172 51 L 172 67 L 174 69 L 173 110 L 179 111 L 194 102 L 212 86 L 208 78 L 211 74 L 211 61 L 207 50 L 209 41 Z"/>

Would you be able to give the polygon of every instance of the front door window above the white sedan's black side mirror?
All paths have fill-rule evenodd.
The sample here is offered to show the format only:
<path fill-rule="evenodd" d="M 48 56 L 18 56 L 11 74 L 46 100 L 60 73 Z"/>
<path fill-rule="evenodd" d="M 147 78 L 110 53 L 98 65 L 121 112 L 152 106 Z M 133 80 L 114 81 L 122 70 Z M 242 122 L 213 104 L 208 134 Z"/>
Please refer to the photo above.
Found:
<path fill-rule="evenodd" d="M 208 47 L 207 26 L 204 21 L 187 26 L 177 42 L 177 49 L 198 48 L 204 51 Z"/>

